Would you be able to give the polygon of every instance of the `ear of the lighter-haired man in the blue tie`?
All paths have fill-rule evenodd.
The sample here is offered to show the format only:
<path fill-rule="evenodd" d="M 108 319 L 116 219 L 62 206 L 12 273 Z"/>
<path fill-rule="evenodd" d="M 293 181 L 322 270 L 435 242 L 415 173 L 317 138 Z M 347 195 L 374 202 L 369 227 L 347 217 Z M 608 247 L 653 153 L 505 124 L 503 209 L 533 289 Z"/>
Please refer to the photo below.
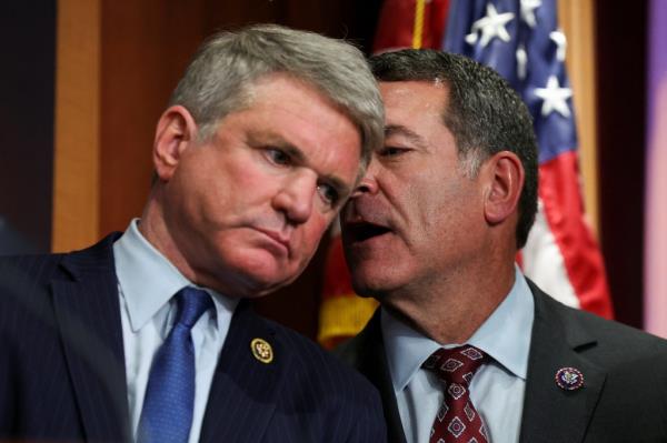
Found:
<path fill-rule="evenodd" d="M 173 105 L 162 113 L 156 128 L 152 155 L 158 180 L 171 179 L 182 152 L 196 140 L 197 123 L 186 108 Z"/>

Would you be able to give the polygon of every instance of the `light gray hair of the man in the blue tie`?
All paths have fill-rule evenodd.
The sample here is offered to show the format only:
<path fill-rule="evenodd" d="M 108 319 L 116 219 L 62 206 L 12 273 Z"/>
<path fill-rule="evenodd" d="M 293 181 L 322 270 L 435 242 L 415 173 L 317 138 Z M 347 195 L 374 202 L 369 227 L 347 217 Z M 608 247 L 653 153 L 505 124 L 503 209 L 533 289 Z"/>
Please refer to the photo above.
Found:
<path fill-rule="evenodd" d="M 385 111 L 364 54 L 351 44 L 313 32 L 258 24 L 208 39 L 173 91 L 170 105 L 188 109 L 199 137 L 211 137 L 219 121 L 251 104 L 252 85 L 285 73 L 323 93 L 358 128 L 361 167 L 382 144 Z"/>

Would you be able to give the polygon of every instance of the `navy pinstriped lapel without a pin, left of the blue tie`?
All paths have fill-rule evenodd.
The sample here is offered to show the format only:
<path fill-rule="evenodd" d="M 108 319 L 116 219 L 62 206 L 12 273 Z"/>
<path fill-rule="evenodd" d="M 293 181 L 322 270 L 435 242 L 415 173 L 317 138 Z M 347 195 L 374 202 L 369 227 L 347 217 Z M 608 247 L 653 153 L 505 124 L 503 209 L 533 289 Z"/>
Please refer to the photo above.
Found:
<path fill-rule="evenodd" d="M 108 236 L 68 254 L 70 279 L 51 282 L 53 306 L 87 441 L 129 441 L 118 283 Z"/>

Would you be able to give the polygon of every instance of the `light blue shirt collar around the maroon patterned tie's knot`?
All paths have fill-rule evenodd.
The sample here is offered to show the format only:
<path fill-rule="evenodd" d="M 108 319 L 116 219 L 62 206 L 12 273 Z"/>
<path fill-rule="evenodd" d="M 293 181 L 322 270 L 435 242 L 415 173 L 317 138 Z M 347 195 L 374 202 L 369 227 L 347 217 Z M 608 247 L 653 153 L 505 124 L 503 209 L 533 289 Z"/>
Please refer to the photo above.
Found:
<path fill-rule="evenodd" d="M 534 304 L 530 288 L 516 266 L 511 290 L 465 344 L 479 348 L 515 376 L 526 380 Z M 439 344 L 408 326 L 386 309 L 381 311 L 380 322 L 396 392 L 408 385 L 421 364 L 436 350 L 459 345 Z"/>

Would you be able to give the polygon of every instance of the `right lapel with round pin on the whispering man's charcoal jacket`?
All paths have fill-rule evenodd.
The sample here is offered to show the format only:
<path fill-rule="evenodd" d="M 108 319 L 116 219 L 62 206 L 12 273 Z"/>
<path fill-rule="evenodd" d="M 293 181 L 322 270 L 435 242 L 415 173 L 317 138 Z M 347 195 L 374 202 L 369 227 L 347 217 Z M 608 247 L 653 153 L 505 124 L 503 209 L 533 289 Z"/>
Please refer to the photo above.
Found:
<path fill-rule="evenodd" d="M 530 284 L 535 295 L 535 323 L 520 442 L 580 442 L 605 384 L 605 372 L 584 359 L 578 350 L 596 340 L 563 315 L 567 308 Z M 566 391 L 556 384 L 556 372 L 575 368 L 584 374 L 584 386 Z"/>

